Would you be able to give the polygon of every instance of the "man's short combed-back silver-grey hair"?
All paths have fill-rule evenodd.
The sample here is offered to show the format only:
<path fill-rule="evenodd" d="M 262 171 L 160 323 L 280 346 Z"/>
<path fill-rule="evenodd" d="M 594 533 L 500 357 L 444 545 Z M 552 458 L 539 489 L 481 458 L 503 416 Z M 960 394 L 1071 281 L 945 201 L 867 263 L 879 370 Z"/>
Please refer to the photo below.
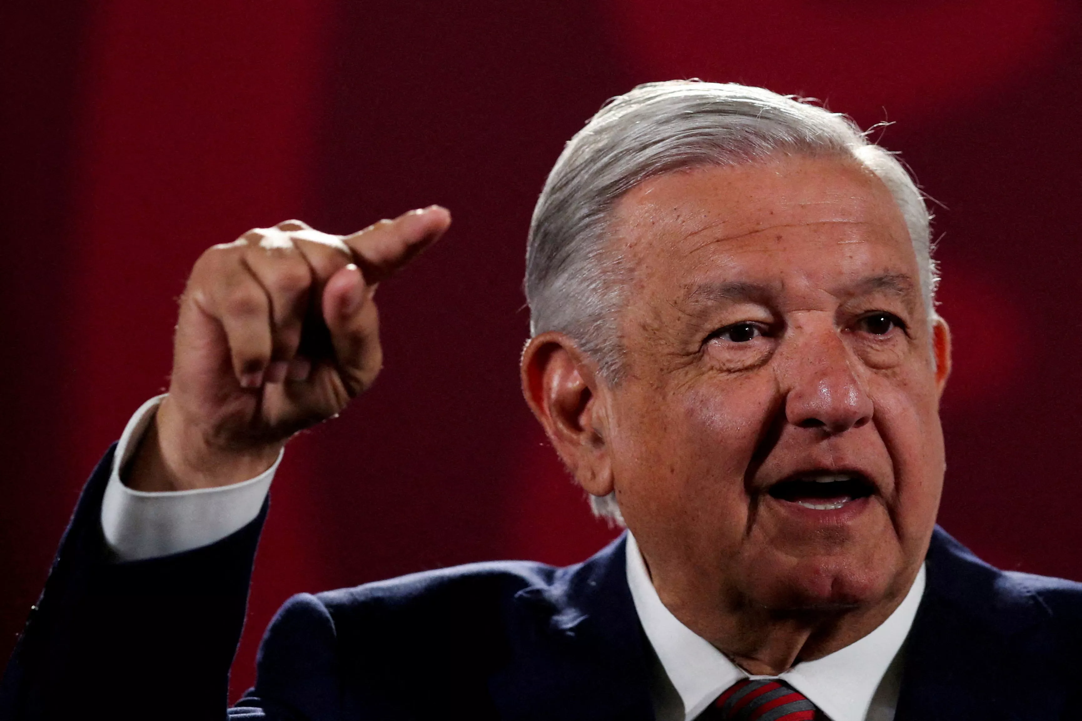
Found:
<path fill-rule="evenodd" d="M 649 82 L 608 101 L 568 141 L 538 198 L 526 250 L 530 333 L 567 333 L 598 367 L 620 377 L 619 312 L 628 271 L 607 242 L 610 211 L 639 183 L 701 166 L 771 155 L 852 158 L 886 185 L 909 230 L 929 322 L 938 274 L 924 198 L 901 162 L 853 120 L 763 88 L 687 80 Z M 594 512 L 621 521 L 613 494 Z"/>

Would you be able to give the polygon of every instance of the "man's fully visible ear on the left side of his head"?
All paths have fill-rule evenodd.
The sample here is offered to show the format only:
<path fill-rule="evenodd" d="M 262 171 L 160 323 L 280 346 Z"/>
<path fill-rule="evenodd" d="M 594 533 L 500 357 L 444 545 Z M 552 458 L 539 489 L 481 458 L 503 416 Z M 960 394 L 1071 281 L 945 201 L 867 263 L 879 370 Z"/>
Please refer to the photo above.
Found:
<path fill-rule="evenodd" d="M 575 480 L 593 496 L 612 490 L 608 386 L 575 341 L 558 332 L 523 350 L 523 395 Z"/>

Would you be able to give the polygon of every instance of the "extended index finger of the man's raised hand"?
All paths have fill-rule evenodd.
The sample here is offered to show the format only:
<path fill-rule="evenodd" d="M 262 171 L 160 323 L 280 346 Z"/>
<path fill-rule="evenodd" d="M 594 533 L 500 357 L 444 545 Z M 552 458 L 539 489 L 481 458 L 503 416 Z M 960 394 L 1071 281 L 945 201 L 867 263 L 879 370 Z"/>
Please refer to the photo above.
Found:
<path fill-rule="evenodd" d="M 375 285 L 435 242 L 450 224 L 451 213 L 446 208 L 428 206 L 380 221 L 342 240 L 353 250 L 366 283 Z"/>

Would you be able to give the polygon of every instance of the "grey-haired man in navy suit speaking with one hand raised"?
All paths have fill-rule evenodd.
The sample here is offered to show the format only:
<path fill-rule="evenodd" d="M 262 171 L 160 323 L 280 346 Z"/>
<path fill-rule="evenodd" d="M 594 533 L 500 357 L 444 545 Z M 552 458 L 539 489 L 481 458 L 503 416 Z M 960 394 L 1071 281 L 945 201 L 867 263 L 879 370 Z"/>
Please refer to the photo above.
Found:
<path fill-rule="evenodd" d="M 928 220 L 822 108 L 698 82 L 607 104 L 538 201 L 522 378 L 628 532 L 567 568 L 296 597 L 230 718 L 1078 716 L 1082 587 L 935 527 L 950 335 Z M 449 222 L 290 221 L 200 258 L 169 394 L 83 494 L 10 718 L 224 712 L 282 446 L 375 378 L 375 288 Z"/>

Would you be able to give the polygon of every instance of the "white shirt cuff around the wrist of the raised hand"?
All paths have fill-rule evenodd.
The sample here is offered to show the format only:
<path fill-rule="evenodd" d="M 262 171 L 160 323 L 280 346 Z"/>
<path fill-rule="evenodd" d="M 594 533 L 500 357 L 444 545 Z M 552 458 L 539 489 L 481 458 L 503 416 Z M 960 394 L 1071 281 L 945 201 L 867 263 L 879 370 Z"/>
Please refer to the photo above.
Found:
<path fill-rule="evenodd" d="M 148 493 L 120 481 L 120 469 L 138 447 L 164 395 L 144 403 L 124 428 L 113 457 L 102 500 L 102 530 L 120 561 L 142 561 L 189 551 L 222 540 L 251 523 L 263 508 L 274 466 L 254 479 L 216 488 Z"/>

